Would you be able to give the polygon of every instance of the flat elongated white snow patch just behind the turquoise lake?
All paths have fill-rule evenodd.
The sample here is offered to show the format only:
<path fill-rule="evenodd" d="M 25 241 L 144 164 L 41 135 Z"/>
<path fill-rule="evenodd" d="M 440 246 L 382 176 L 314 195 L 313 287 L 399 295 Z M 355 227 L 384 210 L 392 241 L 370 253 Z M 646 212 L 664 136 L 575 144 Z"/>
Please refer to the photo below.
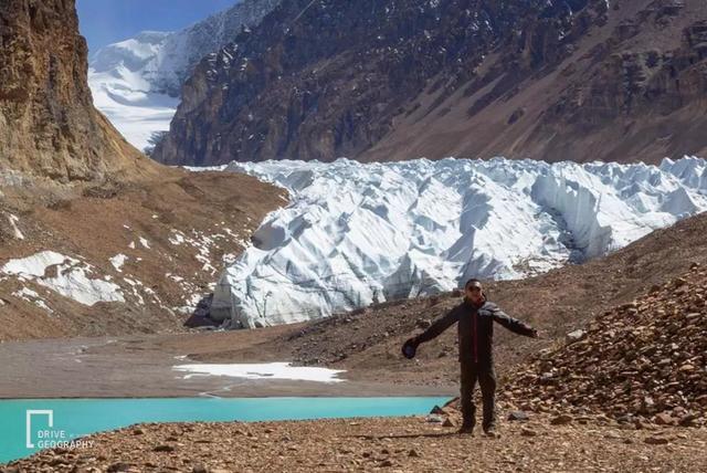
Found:
<path fill-rule="evenodd" d="M 194 376 L 229 376 L 245 379 L 289 379 L 295 381 L 341 382 L 337 376 L 341 369 L 292 366 L 289 362 L 267 364 L 194 364 L 177 365 L 177 371 L 187 372 L 183 379 Z"/>

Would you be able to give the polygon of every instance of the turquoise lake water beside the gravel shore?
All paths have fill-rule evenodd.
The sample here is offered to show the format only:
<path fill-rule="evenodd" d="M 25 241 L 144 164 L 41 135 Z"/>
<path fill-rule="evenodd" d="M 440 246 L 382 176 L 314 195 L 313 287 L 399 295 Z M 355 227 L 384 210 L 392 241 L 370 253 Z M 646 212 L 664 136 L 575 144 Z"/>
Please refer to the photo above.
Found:
<path fill-rule="evenodd" d="M 425 414 L 450 398 L 150 398 L 0 400 L 0 463 L 53 442 L 138 422 L 266 421 Z"/>

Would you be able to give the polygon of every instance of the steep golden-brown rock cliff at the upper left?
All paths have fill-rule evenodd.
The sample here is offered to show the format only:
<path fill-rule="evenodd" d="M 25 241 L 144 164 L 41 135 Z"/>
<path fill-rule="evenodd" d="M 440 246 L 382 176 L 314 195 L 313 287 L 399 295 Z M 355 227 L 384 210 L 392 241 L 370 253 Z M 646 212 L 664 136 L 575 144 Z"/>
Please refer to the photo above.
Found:
<path fill-rule="evenodd" d="M 154 168 L 92 103 L 74 0 L 0 3 L 0 166 L 61 180 Z"/>

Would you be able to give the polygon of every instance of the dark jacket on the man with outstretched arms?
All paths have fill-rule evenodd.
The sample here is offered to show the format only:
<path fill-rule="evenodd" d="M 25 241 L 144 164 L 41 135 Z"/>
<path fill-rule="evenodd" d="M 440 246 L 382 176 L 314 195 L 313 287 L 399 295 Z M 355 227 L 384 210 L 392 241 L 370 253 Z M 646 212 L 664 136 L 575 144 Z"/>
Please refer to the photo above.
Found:
<path fill-rule="evenodd" d="M 474 364 L 478 368 L 493 366 L 494 322 L 516 334 L 532 336 L 532 327 L 505 314 L 493 302 L 475 306 L 464 299 L 442 317 L 435 319 L 430 328 L 418 335 L 414 340 L 421 344 L 433 339 L 454 323 L 457 324 L 460 338 L 460 361 Z"/>

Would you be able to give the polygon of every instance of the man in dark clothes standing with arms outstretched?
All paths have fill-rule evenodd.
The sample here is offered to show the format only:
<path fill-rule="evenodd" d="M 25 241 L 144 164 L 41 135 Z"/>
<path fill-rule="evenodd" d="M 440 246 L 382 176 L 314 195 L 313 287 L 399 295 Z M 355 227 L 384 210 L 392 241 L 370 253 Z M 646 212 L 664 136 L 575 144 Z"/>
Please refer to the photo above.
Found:
<path fill-rule="evenodd" d="M 449 313 L 437 318 L 422 334 L 407 340 L 402 347 L 407 358 L 413 358 L 418 346 L 431 340 L 457 323 L 460 340 L 460 362 L 462 368 L 462 417 L 460 433 L 472 433 L 476 422 L 474 406 L 474 386 L 478 380 L 484 403 L 484 432 L 496 437 L 496 374 L 494 372 L 493 338 L 494 322 L 516 334 L 537 338 L 538 332 L 517 320 L 492 302 L 486 301 L 481 281 L 468 280 L 464 285 L 464 301 Z"/>

